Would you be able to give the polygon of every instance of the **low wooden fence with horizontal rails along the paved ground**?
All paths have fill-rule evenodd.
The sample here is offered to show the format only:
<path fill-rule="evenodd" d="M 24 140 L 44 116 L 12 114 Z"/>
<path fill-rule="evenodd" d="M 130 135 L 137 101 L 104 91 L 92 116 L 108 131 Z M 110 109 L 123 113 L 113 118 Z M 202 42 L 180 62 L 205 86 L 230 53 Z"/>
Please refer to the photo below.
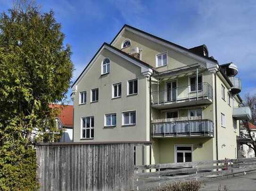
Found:
<path fill-rule="evenodd" d="M 256 158 L 137 165 L 134 170 L 134 190 L 151 190 L 175 181 L 205 180 L 256 170 Z M 149 170 L 153 172 L 149 172 Z"/>

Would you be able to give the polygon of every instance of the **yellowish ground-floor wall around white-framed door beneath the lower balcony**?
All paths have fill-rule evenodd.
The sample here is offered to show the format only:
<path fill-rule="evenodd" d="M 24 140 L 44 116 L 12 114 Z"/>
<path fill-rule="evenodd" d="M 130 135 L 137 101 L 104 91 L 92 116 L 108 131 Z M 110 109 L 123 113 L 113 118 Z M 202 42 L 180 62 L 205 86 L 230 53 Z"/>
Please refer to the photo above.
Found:
<path fill-rule="evenodd" d="M 159 159 L 156 161 L 159 163 L 171 163 L 175 162 L 174 145 L 193 145 L 193 161 L 200 160 L 213 160 L 213 139 L 212 138 L 159 138 L 153 139 L 154 144 L 159 150 L 154 151 L 158 154 Z M 199 143 L 203 144 L 203 147 L 199 148 Z M 153 163 L 154 164 L 154 163 Z"/>

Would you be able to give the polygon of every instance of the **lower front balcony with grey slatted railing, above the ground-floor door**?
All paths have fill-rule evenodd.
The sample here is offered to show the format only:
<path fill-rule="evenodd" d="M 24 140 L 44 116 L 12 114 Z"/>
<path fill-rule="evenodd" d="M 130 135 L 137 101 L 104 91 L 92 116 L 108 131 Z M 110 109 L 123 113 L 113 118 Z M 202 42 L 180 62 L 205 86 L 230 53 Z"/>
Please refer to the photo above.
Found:
<path fill-rule="evenodd" d="M 214 137 L 214 123 L 198 117 L 157 119 L 152 122 L 152 138 Z M 175 120 L 176 119 L 176 120 Z"/>

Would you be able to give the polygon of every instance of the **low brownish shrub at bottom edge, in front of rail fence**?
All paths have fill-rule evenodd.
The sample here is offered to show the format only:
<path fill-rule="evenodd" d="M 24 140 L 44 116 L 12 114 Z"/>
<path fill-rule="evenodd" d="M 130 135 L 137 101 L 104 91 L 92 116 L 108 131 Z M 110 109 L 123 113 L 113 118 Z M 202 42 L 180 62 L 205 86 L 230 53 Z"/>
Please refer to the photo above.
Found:
<path fill-rule="evenodd" d="M 198 191 L 201 188 L 201 183 L 199 181 L 185 181 L 165 184 L 155 191 Z"/>

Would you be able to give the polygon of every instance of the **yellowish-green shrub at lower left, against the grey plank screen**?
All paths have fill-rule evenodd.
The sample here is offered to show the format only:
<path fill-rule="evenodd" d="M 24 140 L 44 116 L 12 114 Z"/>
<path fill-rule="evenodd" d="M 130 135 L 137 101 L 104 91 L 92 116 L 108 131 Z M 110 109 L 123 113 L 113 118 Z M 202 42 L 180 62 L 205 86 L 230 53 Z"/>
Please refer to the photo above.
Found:
<path fill-rule="evenodd" d="M 36 153 L 17 140 L 8 140 L 0 146 L 0 191 L 35 191 Z"/>

